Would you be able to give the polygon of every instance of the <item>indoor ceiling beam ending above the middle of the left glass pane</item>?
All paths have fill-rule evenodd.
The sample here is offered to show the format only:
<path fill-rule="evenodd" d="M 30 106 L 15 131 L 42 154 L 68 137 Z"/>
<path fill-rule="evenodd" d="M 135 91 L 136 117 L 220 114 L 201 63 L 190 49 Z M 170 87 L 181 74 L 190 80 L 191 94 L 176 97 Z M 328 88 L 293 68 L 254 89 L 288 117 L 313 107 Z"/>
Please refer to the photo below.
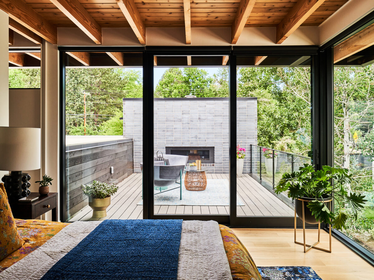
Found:
<path fill-rule="evenodd" d="M 78 0 L 50 0 L 96 44 L 102 43 L 101 26 Z"/>

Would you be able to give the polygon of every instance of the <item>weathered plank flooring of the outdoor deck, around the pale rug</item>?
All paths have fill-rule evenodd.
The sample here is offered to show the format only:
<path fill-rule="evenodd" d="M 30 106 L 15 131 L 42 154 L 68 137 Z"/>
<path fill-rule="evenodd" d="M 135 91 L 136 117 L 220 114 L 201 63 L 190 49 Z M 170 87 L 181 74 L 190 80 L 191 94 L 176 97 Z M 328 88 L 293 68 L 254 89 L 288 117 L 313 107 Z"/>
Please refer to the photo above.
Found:
<path fill-rule="evenodd" d="M 207 174 L 209 179 L 227 179 L 228 174 Z M 142 176 L 133 173 L 121 183 L 118 192 L 112 196 L 107 209 L 107 217 L 92 218 L 89 206 L 82 209 L 70 221 L 93 221 L 105 219 L 142 219 L 142 205 L 137 205 L 141 199 Z M 282 200 L 265 189 L 248 174 L 237 178 L 237 193 L 244 206 L 237 206 L 238 216 L 293 216 L 294 210 Z M 229 194 L 227 194 L 229 195 Z M 193 214 L 193 215 L 227 215 L 229 206 L 191 206 L 191 205 L 156 205 L 156 214 Z"/>

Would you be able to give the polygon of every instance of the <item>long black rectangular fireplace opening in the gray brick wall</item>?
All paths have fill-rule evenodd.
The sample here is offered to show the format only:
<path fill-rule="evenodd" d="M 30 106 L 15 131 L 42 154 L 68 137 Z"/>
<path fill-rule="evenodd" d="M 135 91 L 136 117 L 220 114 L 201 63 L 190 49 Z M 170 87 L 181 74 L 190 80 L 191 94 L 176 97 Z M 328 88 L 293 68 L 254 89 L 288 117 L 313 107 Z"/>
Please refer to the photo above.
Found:
<path fill-rule="evenodd" d="M 167 155 L 188 156 L 188 163 L 200 160 L 202 164 L 214 163 L 214 147 L 165 147 Z"/>

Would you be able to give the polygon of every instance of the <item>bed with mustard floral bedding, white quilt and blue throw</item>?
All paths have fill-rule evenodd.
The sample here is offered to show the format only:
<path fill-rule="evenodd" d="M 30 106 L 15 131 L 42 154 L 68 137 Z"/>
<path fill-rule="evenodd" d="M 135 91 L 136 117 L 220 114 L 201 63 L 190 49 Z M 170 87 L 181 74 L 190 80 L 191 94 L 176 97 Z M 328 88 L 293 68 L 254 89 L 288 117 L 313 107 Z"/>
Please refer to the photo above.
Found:
<path fill-rule="evenodd" d="M 0 279 L 129 279 L 126 273 L 139 270 L 139 264 L 144 264 L 152 258 L 162 265 L 160 267 L 162 276 L 159 279 L 175 279 L 175 275 L 172 276 L 171 274 L 171 278 L 169 278 L 168 273 L 165 272 L 172 271 L 173 262 L 167 262 L 168 260 L 164 259 L 162 252 L 162 250 L 171 250 L 169 247 L 174 246 L 175 243 L 175 248 L 177 248 L 176 258 L 178 259 L 175 270 L 178 271 L 176 277 L 178 280 L 261 280 L 253 259 L 233 231 L 224 225 L 218 225 L 214 221 L 106 220 L 105 223 L 99 221 L 58 223 L 15 219 L 15 223 L 25 244 L 0 262 Z M 179 236 L 174 232 L 178 228 L 177 224 L 181 224 Z M 142 228 L 143 225 L 145 225 L 144 228 Z M 126 227 L 128 232 L 123 234 L 116 230 L 116 228 L 121 227 Z M 151 227 L 150 231 L 147 231 L 149 227 Z M 167 234 L 165 236 L 148 237 L 151 235 L 150 232 L 154 232 L 155 229 L 157 231 L 157 227 L 166 229 Z M 96 233 L 96 235 L 93 233 Z M 106 236 L 109 233 L 110 235 Z M 136 239 L 137 241 L 134 242 L 132 235 L 147 237 L 140 241 Z M 154 253 L 151 255 L 147 255 L 147 249 L 139 251 L 139 247 L 148 248 L 147 242 L 151 238 L 156 238 L 158 240 L 156 243 L 160 242 L 159 245 L 156 245 L 160 249 L 152 249 Z M 85 242 L 86 246 L 84 247 L 81 244 Z M 105 242 L 109 242 L 108 245 L 105 245 Z M 109 251 L 104 251 L 106 254 L 111 254 L 116 250 L 113 248 L 117 248 L 118 251 L 118 248 L 121 247 L 115 246 L 115 244 L 125 244 L 126 242 L 129 243 L 122 247 L 129 248 L 132 247 L 133 243 L 146 242 L 144 243 L 146 245 L 136 248 L 139 253 L 135 254 L 135 258 L 138 258 L 138 260 L 128 262 L 126 265 L 117 263 L 114 268 L 106 264 L 105 269 L 98 269 L 95 264 L 91 272 L 82 271 L 82 267 L 86 269 L 86 267 L 92 266 L 90 264 L 95 263 L 93 260 L 99 257 L 100 244 L 105 243 L 104 245 L 107 248 L 112 248 Z M 78 248 L 79 246 L 82 248 Z M 90 249 L 92 249 L 91 253 L 89 252 Z M 159 252 L 158 256 L 157 252 Z M 146 261 L 144 261 L 144 255 L 147 255 Z M 173 254 L 169 252 L 165 255 L 172 256 Z M 70 260 L 68 256 L 70 256 Z M 56 259 L 51 261 L 52 258 Z M 116 262 L 117 258 L 110 259 L 109 262 Z M 142 259 L 143 261 L 141 261 Z M 62 260 L 65 263 L 56 268 L 56 265 L 60 264 Z M 88 264 L 82 264 L 80 267 L 74 268 L 74 265 L 85 261 Z M 131 264 L 134 262 L 137 265 L 132 268 Z M 126 267 L 122 270 L 122 274 L 117 273 L 119 267 Z M 158 268 L 156 265 L 156 269 Z M 114 269 L 114 271 L 111 271 L 111 269 Z M 64 274 L 68 270 L 72 273 L 70 276 L 68 272 Z M 147 275 L 145 271 L 147 271 L 146 267 L 143 272 L 140 270 L 138 276 Z M 157 275 L 156 272 L 154 273 Z M 108 275 L 111 276 L 107 277 Z M 142 279 L 142 277 L 131 279 Z M 157 277 L 149 275 L 148 279 L 157 279 Z"/>

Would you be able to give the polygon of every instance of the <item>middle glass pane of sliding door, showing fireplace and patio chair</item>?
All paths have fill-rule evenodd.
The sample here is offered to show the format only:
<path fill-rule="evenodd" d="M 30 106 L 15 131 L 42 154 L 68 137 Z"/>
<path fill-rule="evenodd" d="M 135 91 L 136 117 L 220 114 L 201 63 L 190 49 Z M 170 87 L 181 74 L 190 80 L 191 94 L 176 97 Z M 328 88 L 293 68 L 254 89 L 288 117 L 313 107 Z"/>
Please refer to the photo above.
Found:
<path fill-rule="evenodd" d="M 228 215 L 228 57 L 154 60 L 154 214 Z"/>

